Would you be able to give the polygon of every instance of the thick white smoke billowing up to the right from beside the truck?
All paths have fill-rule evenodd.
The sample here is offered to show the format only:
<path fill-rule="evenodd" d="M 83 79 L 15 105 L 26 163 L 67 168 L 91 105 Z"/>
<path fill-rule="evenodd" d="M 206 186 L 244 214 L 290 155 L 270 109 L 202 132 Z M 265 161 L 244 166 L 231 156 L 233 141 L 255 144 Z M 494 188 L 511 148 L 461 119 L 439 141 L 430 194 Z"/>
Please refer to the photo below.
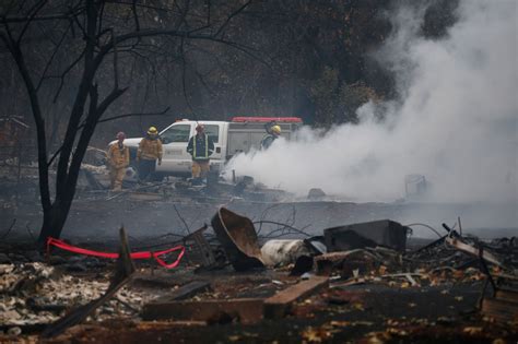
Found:
<path fill-rule="evenodd" d="M 424 10 L 402 9 L 376 54 L 397 72 L 401 102 L 365 104 L 358 124 L 321 135 L 305 129 L 226 167 L 304 195 L 310 188 L 355 201 L 404 195 L 425 175 L 434 201 L 516 200 L 517 2 L 464 0 L 445 38 L 417 36 Z M 375 111 L 382 109 L 385 120 Z"/>

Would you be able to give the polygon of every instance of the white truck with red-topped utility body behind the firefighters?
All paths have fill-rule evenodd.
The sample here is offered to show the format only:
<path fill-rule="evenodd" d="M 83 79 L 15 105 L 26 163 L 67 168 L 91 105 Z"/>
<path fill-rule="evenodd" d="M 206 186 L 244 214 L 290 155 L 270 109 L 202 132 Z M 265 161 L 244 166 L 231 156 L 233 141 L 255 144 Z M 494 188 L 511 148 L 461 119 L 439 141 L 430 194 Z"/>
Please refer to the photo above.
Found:
<path fill-rule="evenodd" d="M 220 171 L 225 162 L 235 154 L 248 152 L 251 147 L 258 150 L 266 134 L 266 126 L 272 122 L 281 127 L 281 137 L 285 139 L 290 139 L 303 126 L 298 117 L 234 117 L 231 121 L 178 120 L 160 132 L 164 155 L 162 165 L 156 166 L 156 175 L 190 176 L 191 156 L 187 153 L 187 143 L 196 133 L 198 123 L 204 124 L 205 133 L 214 142 L 211 170 Z M 128 175 L 137 173 L 134 157 L 141 139 L 125 140 L 125 144 L 130 149 L 130 168 L 133 169 Z"/>

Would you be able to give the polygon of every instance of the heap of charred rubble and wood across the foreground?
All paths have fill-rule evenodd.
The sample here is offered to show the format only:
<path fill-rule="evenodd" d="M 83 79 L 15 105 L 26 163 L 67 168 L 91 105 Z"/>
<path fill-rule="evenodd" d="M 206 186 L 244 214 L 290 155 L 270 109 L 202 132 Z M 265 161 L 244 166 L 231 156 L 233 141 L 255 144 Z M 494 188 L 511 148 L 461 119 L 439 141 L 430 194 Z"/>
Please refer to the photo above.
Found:
<path fill-rule="evenodd" d="M 136 273 L 123 228 L 115 264 L 7 256 L 0 330 L 79 343 L 518 337 L 516 238 L 483 241 L 444 225 L 444 236 L 409 249 L 409 227 L 381 220 L 262 240 L 224 207 L 211 224 L 214 234 L 204 225 L 179 240 L 187 260 L 175 269 L 148 261 Z"/>

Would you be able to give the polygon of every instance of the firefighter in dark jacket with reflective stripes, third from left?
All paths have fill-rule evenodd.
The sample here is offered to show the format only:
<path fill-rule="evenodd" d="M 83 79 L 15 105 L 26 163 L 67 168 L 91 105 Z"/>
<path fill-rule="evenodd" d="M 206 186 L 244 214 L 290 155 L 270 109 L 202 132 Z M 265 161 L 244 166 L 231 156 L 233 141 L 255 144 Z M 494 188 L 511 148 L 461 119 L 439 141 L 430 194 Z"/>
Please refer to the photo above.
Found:
<path fill-rule="evenodd" d="M 205 134 L 203 124 L 196 127 L 196 135 L 189 139 L 187 152 L 192 156 L 192 183 L 200 185 L 210 169 L 209 156 L 214 152 L 214 142 Z"/>

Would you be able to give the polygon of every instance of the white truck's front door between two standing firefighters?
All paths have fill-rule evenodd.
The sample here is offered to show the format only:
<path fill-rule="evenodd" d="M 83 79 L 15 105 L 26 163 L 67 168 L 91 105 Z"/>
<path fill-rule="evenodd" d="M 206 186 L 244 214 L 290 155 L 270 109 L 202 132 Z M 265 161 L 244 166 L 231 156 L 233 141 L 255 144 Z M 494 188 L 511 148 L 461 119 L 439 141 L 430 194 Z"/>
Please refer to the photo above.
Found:
<path fill-rule="evenodd" d="M 191 157 L 187 153 L 191 123 L 174 123 L 161 132 L 164 156 L 162 165 L 156 166 L 157 171 L 172 174 L 190 174 Z"/>

